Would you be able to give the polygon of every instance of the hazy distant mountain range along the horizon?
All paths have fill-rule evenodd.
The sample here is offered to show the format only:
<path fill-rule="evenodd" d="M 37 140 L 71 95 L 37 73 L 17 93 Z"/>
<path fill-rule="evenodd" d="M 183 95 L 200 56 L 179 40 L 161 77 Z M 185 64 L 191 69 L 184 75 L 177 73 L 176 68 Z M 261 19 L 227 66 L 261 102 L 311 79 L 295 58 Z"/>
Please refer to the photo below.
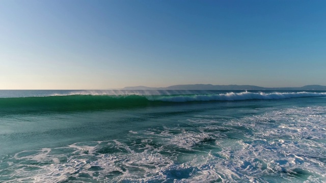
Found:
<path fill-rule="evenodd" d="M 127 90 L 326 90 L 322 85 L 306 85 L 302 87 L 260 87 L 254 85 L 212 85 L 212 84 L 181 84 L 168 87 L 127 86 Z"/>

